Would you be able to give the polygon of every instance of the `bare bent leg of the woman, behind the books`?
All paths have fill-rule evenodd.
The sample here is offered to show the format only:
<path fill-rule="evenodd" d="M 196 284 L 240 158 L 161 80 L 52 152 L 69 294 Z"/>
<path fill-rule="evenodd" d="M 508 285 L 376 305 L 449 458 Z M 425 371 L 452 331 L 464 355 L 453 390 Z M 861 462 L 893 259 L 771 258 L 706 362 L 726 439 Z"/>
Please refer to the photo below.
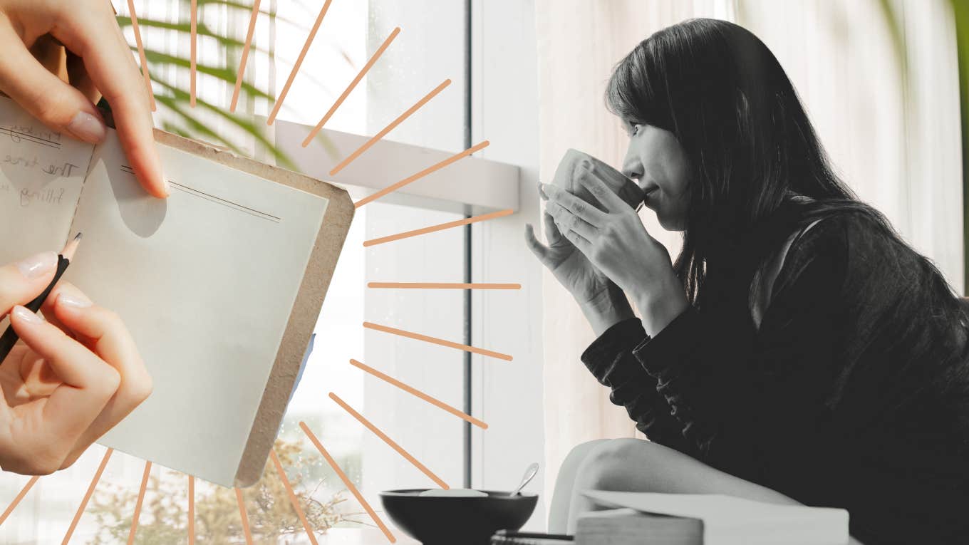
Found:
<path fill-rule="evenodd" d="M 633 438 L 597 442 L 586 451 L 573 484 L 569 533 L 575 533 L 578 515 L 599 508 L 582 496 L 584 490 L 726 494 L 800 505 L 796 499 L 705 465 L 677 450 Z M 850 543 L 860 545 L 855 539 Z"/>

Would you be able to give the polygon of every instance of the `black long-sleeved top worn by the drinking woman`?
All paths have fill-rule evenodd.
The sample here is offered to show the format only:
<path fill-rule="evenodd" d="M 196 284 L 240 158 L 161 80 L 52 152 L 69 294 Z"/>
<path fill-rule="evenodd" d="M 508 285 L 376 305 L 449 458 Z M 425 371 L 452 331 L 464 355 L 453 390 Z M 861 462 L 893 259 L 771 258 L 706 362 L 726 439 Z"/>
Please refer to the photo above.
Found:
<path fill-rule="evenodd" d="M 969 543 L 967 325 L 938 272 L 846 213 L 794 242 L 770 294 L 759 327 L 691 305 L 582 361 L 651 440 L 846 508 L 866 545 Z"/>

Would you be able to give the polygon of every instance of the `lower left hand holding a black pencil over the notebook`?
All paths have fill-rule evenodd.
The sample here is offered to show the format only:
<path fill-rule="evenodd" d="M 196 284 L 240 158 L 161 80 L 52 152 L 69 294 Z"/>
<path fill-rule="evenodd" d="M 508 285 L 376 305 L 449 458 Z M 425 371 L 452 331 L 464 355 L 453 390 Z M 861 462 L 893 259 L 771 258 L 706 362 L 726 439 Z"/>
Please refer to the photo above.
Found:
<path fill-rule="evenodd" d="M 0 363 L 0 467 L 17 473 L 74 464 L 151 393 L 127 329 L 78 288 L 58 283 L 43 307 L 47 321 L 20 306 L 44 290 L 55 264 L 47 252 L 0 267 L 0 316 L 10 314 L 20 337 Z"/>

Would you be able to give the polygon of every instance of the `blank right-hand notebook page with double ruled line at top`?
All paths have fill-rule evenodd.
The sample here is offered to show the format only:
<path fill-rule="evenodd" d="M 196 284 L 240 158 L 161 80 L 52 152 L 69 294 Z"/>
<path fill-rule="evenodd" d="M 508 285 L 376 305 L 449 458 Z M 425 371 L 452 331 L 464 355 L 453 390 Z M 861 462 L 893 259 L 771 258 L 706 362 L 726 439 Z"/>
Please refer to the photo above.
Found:
<path fill-rule="evenodd" d="M 98 442 L 233 486 L 328 201 L 159 145 L 172 196 L 95 148 L 67 277 L 119 313 L 154 392 Z"/>

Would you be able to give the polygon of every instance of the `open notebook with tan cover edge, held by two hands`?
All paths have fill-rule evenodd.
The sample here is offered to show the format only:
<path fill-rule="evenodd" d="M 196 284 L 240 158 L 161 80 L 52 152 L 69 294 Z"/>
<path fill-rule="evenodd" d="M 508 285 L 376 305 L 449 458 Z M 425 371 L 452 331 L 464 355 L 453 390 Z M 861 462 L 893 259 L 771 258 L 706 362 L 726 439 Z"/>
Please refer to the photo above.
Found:
<path fill-rule="evenodd" d="M 98 442 L 226 487 L 262 475 L 353 218 L 346 191 L 156 131 L 149 197 L 0 98 L 0 264 L 84 235 L 65 277 L 117 311 L 154 391 Z"/>

